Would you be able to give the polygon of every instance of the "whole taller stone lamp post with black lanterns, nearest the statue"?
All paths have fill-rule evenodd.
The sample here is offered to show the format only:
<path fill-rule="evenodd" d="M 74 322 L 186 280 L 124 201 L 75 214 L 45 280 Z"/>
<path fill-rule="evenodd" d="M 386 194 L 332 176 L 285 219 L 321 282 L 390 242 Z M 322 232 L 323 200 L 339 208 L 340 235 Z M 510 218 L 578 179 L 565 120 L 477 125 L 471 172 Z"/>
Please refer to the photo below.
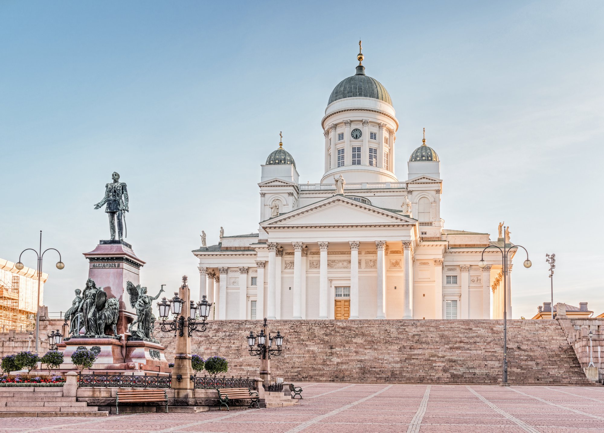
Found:
<path fill-rule="evenodd" d="M 194 387 L 194 382 L 189 378 L 193 377 L 193 367 L 191 367 L 191 335 L 194 331 L 205 332 L 207 329 L 207 318 L 210 315 L 211 302 L 204 298 L 195 304 L 190 301 L 190 293 L 187 285 L 187 276 L 182 277 L 182 285 L 179 291 L 174 294 L 170 300 L 165 299 L 157 303 L 159 307 L 159 322 L 162 332 L 174 332 L 176 337 L 176 347 L 174 356 L 174 367 L 172 369 L 176 376 L 176 381 L 170 385 L 175 390 L 187 391 Z M 188 311 L 182 311 L 182 306 L 188 305 Z M 166 321 L 168 315 L 172 312 L 172 321 Z M 185 313 L 188 317 L 185 319 Z M 197 319 L 201 318 L 201 321 Z M 187 332 L 184 332 L 185 327 Z M 177 335 L 178 334 L 178 335 Z M 182 382 L 182 378 L 187 378 Z M 191 382 L 193 382 L 191 384 Z"/>

